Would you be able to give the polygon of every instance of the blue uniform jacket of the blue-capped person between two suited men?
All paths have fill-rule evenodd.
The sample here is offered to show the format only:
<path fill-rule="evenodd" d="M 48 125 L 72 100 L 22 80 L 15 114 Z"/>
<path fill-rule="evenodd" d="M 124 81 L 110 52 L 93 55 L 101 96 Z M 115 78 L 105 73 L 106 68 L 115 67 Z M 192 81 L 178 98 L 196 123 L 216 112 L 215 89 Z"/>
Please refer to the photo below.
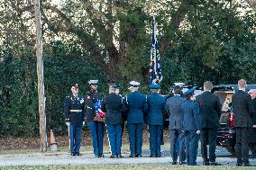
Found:
<path fill-rule="evenodd" d="M 183 113 L 182 130 L 201 130 L 199 105 L 195 101 L 186 100 L 181 104 Z"/>

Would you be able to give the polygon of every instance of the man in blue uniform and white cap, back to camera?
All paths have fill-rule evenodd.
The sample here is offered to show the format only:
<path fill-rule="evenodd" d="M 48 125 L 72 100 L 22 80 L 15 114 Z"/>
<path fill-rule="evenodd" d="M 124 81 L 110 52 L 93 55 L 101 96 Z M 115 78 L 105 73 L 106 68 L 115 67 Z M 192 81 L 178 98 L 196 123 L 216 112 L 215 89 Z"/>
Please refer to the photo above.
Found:
<path fill-rule="evenodd" d="M 142 131 L 144 125 L 144 112 L 148 110 L 146 95 L 138 92 L 139 82 L 132 81 L 131 94 L 128 94 L 127 103 L 127 126 L 130 141 L 130 157 L 142 157 Z"/>

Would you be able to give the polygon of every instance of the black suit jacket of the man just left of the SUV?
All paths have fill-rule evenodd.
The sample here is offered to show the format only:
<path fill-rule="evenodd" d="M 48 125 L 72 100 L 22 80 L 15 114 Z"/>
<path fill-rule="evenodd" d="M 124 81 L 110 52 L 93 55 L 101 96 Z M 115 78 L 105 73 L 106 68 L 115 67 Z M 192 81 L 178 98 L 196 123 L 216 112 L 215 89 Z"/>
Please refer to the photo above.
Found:
<path fill-rule="evenodd" d="M 202 128 L 218 128 L 219 119 L 222 114 L 220 99 L 211 92 L 204 92 L 197 96 L 201 115 Z"/>

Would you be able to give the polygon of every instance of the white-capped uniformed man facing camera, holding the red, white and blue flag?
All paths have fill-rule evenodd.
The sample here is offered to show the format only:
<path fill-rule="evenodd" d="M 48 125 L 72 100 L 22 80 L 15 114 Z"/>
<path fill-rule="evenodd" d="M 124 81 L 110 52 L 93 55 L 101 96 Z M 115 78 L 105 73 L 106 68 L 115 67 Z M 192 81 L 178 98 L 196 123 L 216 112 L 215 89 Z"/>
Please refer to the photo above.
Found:
<path fill-rule="evenodd" d="M 93 139 L 93 147 L 95 157 L 104 157 L 103 155 L 103 139 L 104 139 L 104 122 L 94 121 L 96 117 L 95 104 L 102 100 L 102 95 L 97 91 L 98 80 L 89 80 L 88 84 L 91 90 L 87 92 L 85 97 L 86 120 Z"/>

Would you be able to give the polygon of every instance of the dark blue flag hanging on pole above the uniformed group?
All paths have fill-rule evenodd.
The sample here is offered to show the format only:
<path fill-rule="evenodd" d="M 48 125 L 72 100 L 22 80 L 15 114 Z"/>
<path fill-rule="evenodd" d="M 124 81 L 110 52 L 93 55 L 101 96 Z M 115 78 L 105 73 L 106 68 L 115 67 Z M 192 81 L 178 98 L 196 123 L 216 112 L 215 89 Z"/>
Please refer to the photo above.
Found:
<path fill-rule="evenodd" d="M 150 65 L 150 85 L 159 84 L 163 76 L 160 67 L 160 50 L 156 36 L 155 16 L 152 20 L 152 42 L 151 42 L 151 65 Z"/>

